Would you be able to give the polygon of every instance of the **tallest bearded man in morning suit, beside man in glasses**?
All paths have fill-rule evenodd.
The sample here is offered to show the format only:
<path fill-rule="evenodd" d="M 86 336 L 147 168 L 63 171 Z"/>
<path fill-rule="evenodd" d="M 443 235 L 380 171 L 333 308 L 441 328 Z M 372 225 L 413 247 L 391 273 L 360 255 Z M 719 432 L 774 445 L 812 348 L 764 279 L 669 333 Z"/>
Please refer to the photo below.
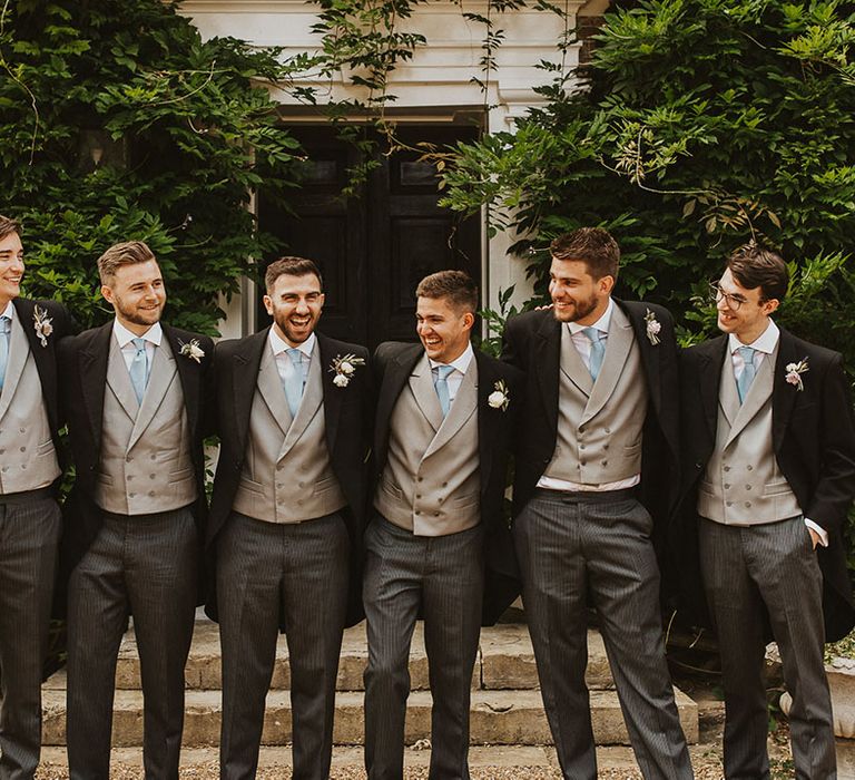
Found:
<path fill-rule="evenodd" d="M 690 778 L 651 540 L 678 487 L 672 321 L 661 306 L 611 298 L 620 250 L 605 230 L 550 250 L 553 309 L 510 320 L 502 357 L 528 373 L 513 536 L 552 738 L 566 778 L 597 777 L 590 593 L 645 778 Z"/>

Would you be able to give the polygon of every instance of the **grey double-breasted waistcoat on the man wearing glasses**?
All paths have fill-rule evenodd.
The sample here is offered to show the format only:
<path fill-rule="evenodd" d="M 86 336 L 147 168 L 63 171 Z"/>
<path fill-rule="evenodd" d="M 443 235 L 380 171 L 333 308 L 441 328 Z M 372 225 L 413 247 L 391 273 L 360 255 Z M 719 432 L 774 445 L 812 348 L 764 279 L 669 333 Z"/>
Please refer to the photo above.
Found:
<path fill-rule="evenodd" d="M 743 404 L 734 362 L 725 355 L 718 391 L 716 449 L 698 489 L 698 514 L 725 525 L 759 525 L 802 514 L 772 443 L 772 390 L 777 347 L 757 370 Z"/>

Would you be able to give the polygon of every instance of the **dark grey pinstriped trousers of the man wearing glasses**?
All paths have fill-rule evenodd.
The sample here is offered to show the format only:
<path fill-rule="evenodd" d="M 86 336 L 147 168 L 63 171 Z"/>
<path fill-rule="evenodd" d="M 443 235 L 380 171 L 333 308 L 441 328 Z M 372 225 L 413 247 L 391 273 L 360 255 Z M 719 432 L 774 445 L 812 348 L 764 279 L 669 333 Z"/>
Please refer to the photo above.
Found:
<path fill-rule="evenodd" d="M 796 777 L 837 777 L 834 721 L 823 665 L 823 577 L 802 517 L 758 526 L 699 520 L 700 565 L 718 634 L 725 689 L 725 776 L 769 777 L 763 680 L 765 613 L 793 696 Z"/>

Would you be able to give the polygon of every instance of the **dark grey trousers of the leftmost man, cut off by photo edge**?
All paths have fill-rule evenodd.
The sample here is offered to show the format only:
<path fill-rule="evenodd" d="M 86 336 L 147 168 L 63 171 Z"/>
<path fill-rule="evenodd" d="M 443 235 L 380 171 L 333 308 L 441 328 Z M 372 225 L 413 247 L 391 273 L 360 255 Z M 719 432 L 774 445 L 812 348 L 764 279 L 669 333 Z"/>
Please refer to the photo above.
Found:
<path fill-rule="evenodd" d="M 0 780 L 32 778 L 39 763 L 60 528 L 52 498 L 0 498 Z"/>

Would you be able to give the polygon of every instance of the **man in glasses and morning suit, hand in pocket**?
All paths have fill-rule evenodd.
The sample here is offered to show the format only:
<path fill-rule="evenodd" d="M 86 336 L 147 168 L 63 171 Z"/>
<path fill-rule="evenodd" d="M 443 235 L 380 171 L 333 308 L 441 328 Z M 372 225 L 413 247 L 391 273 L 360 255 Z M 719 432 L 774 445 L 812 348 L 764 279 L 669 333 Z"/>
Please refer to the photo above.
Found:
<path fill-rule="evenodd" d="M 787 284 L 779 255 L 738 248 L 714 285 L 723 335 L 681 357 L 682 559 L 695 575 L 699 552 L 718 634 L 731 780 L 769 777 L 769 627 L 793 696 L 796 777 L 836 777 L 823 644 L 855 624 L 842 533 L 855 494 L 848 382 L 839 353 L 772 320 Z"/>

